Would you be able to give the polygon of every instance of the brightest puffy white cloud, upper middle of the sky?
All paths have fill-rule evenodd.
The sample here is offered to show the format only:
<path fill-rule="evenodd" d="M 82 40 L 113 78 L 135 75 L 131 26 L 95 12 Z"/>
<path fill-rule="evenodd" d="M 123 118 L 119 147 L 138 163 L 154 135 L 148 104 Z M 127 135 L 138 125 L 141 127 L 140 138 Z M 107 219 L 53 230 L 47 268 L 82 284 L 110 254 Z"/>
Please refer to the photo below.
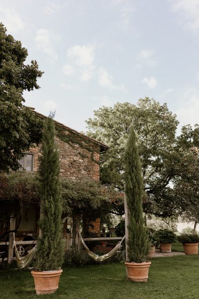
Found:
<path fill-rule="evenodd" d="M 68 49 L 67 55 L 69 58 L 75 58 L 77 66 L 91 66 L 94 61 L 94 46 L 75 45 Z"/>

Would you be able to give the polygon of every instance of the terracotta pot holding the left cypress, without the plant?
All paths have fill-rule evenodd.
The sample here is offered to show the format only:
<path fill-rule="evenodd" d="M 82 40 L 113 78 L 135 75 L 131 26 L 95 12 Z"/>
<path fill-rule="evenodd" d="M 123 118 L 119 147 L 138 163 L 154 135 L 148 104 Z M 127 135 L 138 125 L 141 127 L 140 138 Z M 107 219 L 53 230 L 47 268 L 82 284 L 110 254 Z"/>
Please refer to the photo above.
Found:
<path fill-rule="evenodd" d="M 63 270 L 31 271 L 34 278 L 36 294 L 52 294 L 58 289 L 59 277 Z"/>

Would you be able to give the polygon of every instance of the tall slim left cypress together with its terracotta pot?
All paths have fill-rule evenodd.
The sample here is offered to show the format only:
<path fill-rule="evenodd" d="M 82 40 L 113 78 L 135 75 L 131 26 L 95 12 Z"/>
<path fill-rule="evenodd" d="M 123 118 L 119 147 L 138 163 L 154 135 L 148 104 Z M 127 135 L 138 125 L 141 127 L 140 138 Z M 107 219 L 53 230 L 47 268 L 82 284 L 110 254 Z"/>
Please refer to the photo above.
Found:
<path fill-rule="evenodd" d="M 37 244 L 34 278 L 36 294 L 51 294 L 58 288 L 63 263 L 61 196 L 59 185 L 59 156 L 55 143 L 53 117 L 44 122 L 39 166 L 41 235 Z"/>

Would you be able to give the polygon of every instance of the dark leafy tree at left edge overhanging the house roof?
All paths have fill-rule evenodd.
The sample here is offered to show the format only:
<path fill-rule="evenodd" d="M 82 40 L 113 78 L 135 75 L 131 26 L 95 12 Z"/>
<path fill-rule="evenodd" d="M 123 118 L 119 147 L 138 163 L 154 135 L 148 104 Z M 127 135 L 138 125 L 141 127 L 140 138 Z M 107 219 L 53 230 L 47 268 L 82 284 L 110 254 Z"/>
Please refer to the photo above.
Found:
<path fill-rule="evenodd" d="M 36 61 L 25 65 L 27 56 L 0 23 L 0 170 L 18 169 L 23 151 L 41 138 L 41 121 L 23 105 L 23 92 L 38 89 L 43 72 Z"/>

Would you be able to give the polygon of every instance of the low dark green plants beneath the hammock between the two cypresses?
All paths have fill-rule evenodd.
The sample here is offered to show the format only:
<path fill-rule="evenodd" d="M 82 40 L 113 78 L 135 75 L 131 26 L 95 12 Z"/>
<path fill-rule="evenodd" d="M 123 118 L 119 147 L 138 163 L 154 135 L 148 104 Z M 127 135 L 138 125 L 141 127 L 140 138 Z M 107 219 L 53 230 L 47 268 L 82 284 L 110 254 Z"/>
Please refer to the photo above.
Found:
<path fill-rule="evenodd" d="M 79 251 L 68 250 L 64 255 L 64 264 L 77 265 L 77 266 L 97 265 L 97 264 L 99 265 L 99 264 L 121 262 L 124 261 L 124 257 L 125 257 L 125 251 L 119 251 L 116 252 L 113 257 L 111 257 L 110 259 L 104 262 L 96 262 L 84 250 L 79 250 Z"/>

